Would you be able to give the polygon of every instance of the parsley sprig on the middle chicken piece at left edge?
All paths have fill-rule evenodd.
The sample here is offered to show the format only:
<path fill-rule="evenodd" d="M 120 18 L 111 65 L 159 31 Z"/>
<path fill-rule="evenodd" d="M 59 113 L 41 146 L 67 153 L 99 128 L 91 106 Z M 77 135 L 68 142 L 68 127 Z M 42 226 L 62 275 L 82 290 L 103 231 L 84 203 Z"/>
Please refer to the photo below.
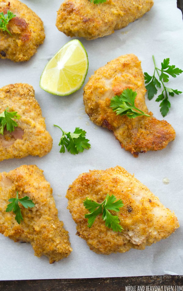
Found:
<path fill-rule="evenodd" d="M 14 126 L 18 126 L 18 124 L 16 123 L 15 120 L 13 120 L 13 118 L 15 119 L 20 119 L 20 115 L 17 114 L 16 111 L 12 111 L 12 112 L 8 112 L 8 107 L 5 109 L 5 111 L 3 111 L 2 113 L 0 113 L 0 134 L 3 135 L 4 134 L 4 128 L 6 126 L 7 131 L 12 132 L 15 130 Z"/>

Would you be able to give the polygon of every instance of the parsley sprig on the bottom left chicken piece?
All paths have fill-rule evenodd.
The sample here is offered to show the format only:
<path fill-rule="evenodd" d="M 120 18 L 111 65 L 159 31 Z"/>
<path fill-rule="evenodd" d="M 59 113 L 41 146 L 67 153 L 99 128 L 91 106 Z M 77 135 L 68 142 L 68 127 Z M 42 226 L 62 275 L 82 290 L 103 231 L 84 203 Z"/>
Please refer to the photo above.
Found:
<path fill-rule="evenodd" d="M 18 191 L 16 191 L 16 198 L 10 198 L 8 201 L 11 202 L 8 204 L 6 208 L 6 212 L 13 211 L 14 214 L 16 214 L 15 219 L 20 224 L 20 221 L 23 221 L 21 209 L 19 206 L 19 202 L 23 205 L 25 208 L 32 208 L 35 206 L 35 204 L 32 202 L 32 200 L 29 200 L 30 198 L 28 196 L 25 196 L 21 199 L 18 198 Z"/>

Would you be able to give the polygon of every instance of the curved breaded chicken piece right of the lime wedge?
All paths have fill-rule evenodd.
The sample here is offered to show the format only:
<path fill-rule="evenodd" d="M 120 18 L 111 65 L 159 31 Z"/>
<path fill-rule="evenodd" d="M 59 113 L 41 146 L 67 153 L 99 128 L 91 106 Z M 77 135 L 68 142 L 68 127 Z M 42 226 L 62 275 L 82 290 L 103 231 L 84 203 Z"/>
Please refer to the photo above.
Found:
<path fill-rule="evenodd" d="M 130 119 L 116 115 L 110 108 L 110 99 L 124 89 L 137 92 L 135 106 L 148 113 L 145 104 L 145 84 L 141 62 L 133 54 L 113 59 L 96 70 L 84 87 L 85 111 L 97 125 L 113 131 L 120 145 L 135 157 L 138 153 L 163 149 L 174 140 L 175 131 L 165 120 L 140 116 Z"/>

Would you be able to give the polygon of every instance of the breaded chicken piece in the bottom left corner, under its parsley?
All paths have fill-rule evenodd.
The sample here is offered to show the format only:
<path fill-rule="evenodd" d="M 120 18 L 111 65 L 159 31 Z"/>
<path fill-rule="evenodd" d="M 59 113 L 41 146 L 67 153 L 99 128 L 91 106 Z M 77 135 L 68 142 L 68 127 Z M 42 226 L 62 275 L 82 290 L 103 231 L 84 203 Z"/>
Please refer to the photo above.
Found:
<path fill-rule="evenodd" d="M 43 171 L 36 165 L 23 165 L 9 173 L 0 173 L 0 233 L 15 242 L 31 243 L 35 255 L 45 255 L 50 264 L 67 257 L 72 251 L 68 232 L 59 221 L 52 188 Z M 5 212 L 8 200 L 28 196 L 35 206 L 24 208 L 20 204 L 23 221 L 20 225 L 15 214 Z"/>

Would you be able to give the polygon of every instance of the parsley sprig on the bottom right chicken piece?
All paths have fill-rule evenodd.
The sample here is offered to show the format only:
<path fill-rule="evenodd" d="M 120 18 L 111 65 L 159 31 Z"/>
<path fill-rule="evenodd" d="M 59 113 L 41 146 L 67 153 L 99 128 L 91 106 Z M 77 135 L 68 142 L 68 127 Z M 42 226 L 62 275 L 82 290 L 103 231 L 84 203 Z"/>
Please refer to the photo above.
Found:
<path fill-rule="evenodd" d="M 119 208 L 124 206 L 121 199 L 116 200 L 117 199 L 113 194 L 111 196 L 107 194 L 104 201 L 100 204 L 90 198 L 86 198 L 83 204 L 84 207 L 90 211 L 90 213 L 84 215 L 85 218 L 88 218 L 88 227 L 90 228 L 94 223 L 95 218 L 99 214 L 102 214 L 102 218 L 108 228 L 111 228 L 114 232 L 121 232 L 123 228 L 120 225 L 118 216 L 114 216 L 109 212 L 109 210 L 119 212 Z"/>

